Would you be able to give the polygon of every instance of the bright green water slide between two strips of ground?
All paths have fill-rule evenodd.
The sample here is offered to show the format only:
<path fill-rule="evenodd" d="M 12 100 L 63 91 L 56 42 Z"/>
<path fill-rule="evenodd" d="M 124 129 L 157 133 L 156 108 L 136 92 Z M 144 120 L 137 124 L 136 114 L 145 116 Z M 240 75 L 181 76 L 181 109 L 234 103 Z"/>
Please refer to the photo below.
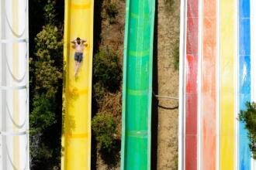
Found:
<path fill-rule="evenodd" d="M 126 1 L 121 169 L 150 169 L 155 0 Z"/>

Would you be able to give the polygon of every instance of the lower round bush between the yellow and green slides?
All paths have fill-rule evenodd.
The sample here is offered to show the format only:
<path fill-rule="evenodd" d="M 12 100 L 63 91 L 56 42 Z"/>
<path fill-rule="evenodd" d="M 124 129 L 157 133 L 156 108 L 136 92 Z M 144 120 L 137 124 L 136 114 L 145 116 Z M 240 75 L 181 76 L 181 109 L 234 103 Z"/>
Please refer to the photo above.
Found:
<path fill-rule="evenodd" d="M 110 152 L 115 146 L 116 121 L 112 115 L 98 113 L 92 119 L 92 131 L 101 151 Z"/>

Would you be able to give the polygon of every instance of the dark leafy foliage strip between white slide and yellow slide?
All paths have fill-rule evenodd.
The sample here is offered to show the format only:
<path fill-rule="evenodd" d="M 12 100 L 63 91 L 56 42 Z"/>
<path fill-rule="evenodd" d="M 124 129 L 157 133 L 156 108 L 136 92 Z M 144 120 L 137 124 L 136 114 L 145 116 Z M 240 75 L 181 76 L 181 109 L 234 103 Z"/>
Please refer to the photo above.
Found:
<path fill-rule="evenodd" d="M 43 15 L 45 26 L 36 34 L 34 55 L 29 59 L 30 161 L 32 169 L 53 169 L 61 158 L 63 23 L 55 19 L 56 0 L 38 1 L 43 5 L 44 13 L 39 15 Z"/>

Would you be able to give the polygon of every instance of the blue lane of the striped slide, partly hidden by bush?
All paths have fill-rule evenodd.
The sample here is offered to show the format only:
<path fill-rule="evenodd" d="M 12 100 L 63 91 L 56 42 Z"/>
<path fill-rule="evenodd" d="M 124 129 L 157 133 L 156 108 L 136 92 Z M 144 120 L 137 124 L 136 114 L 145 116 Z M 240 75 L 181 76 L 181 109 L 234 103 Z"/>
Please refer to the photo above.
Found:
<path fill-rule="evenodd" d="M 250 0 L 239 3 L 239 110 L 244 110 L 245 102 L 251 101 L 251 9 Z M 244 124 L 239 124 L 238 168 L 251 169 L 251 151 Z"/>

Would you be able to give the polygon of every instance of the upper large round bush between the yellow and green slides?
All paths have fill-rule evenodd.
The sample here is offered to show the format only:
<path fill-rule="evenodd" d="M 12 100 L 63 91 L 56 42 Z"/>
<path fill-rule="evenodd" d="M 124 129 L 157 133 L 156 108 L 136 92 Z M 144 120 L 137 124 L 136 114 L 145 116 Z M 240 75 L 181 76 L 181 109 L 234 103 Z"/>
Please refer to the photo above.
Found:
<path fill-rule="evenodd" d="M 93 62 L 94 82 L 102 83 L 110 92 L 119 89 L 121 81 L 121 68 L 119 56 L 109 49 L 102 49 L 95 54 Z"/>

